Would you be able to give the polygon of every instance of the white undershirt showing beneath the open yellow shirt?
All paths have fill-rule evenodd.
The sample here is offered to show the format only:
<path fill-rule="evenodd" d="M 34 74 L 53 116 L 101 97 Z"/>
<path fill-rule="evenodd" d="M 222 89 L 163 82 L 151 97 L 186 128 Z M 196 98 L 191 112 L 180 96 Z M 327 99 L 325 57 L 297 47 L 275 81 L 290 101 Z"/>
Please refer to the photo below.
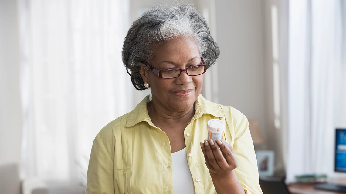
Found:
<path fill-rule="evenodd" d="M 195 194 L 190 172 L 186 147 L 172 153 L 173 161 L 173 194 Z"/>

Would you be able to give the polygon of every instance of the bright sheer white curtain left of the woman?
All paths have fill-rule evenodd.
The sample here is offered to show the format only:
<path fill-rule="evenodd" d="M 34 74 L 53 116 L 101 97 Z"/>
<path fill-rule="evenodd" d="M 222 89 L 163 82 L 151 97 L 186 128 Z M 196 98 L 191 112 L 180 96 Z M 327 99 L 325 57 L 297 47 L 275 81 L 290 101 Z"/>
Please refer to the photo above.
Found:
<path fill-rule="evenodd" d="M 22 177 L 85 182 L 93 139 L 133 109 L 127 0 L 19 0 Z"/>

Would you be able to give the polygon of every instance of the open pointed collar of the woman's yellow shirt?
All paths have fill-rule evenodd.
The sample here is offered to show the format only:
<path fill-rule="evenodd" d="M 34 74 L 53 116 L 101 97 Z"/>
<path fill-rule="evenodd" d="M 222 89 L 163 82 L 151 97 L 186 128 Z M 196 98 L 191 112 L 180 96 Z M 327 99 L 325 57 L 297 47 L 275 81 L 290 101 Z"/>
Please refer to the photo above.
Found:
<path fill-rule="evenodd" d="M 143 121 L 147 122 L 149 125 L 154 126 L 147 110 L 147 103 L 152 101 L 152 99 L 152 95 L 149 94 L 136 106 L 134 110 L 132 110 L 129 113 L 128 120 L 125 125 L 126 127 L 134 126 L 137 123 Z M 196 100 L 195 114 L 193 116 L 193 119 L 197 119 L 201 117 L 203 114 L 210 114 L 215 117 L 225 117 L 224 112 L 222 111 L 219 104 L 206 100 L 200 94 Z"/>

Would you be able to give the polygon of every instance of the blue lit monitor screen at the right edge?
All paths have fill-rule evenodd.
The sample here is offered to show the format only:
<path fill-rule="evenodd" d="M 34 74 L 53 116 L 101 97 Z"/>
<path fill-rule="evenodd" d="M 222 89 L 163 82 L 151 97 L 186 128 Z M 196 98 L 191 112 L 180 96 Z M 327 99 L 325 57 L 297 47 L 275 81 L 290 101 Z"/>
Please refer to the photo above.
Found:
<path fill-rule="evenodd" d="M 336 129 L 335 171 L 346 172 L 346 129 Z"/>

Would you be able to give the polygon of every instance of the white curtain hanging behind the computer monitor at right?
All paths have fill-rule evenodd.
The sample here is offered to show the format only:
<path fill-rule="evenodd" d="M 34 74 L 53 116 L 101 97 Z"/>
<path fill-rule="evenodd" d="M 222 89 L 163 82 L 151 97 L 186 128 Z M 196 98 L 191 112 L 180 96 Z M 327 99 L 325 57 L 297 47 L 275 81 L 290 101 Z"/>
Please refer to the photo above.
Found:
<path fill-rule="evenodd" d="M 286 176 L 334 174 L 335 128 L 346 127 L 343 0 L 289 3 Z"/>

